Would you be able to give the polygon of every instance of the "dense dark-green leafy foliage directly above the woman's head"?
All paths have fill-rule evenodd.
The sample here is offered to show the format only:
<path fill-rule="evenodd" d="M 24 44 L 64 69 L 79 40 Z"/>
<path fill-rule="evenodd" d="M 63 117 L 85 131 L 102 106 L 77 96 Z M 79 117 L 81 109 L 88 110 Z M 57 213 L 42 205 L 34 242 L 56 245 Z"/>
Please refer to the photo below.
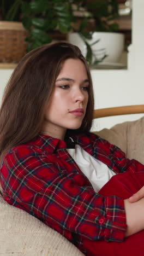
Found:
<path fill-rule="evenodd" d="M 52 34 L 57 30 L 68 33 L 73 20 L 70 1 L 35 0 L 22 2 L 22 24 L 28 30 L 28 48 L 32 50 L 52 42 Z"/>

